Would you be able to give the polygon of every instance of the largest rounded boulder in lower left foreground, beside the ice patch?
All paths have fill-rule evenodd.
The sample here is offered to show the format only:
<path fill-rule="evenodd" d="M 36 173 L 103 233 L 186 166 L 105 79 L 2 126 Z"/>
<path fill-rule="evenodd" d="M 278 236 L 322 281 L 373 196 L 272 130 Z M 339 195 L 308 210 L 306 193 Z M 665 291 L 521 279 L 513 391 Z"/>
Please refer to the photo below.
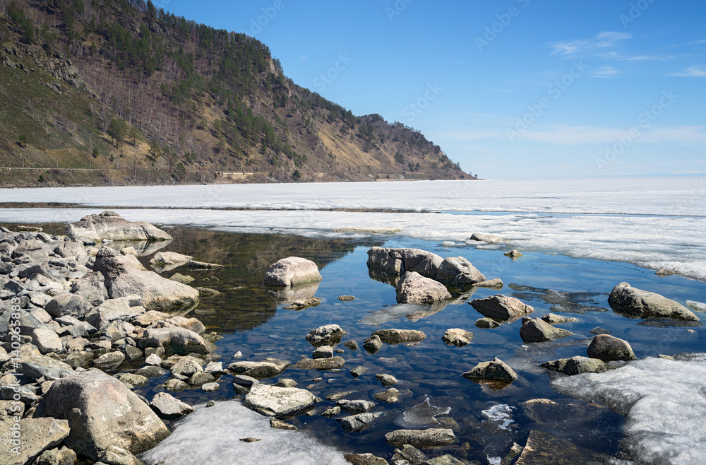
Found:
<path fill-rule="evenodd" d="M 68 420 L 71 433 L 64 444 L 93 460 L 110 445 L 138 454 L 169 436 L 145 402 L 99 370 L 57 380 L 42 404 L 49 416 Z"/>

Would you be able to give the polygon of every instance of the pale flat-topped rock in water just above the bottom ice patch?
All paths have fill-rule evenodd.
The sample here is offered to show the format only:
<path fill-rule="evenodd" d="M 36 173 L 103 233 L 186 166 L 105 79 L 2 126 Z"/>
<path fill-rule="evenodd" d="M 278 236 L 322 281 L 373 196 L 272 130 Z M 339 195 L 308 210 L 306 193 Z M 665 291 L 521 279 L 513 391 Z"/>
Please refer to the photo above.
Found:
<path fill-rule="evenodd" d="M 292 416 L 313 407 L 315 397 L 306 389 L 253 384 L 244 406 L 265 416 Z"/>

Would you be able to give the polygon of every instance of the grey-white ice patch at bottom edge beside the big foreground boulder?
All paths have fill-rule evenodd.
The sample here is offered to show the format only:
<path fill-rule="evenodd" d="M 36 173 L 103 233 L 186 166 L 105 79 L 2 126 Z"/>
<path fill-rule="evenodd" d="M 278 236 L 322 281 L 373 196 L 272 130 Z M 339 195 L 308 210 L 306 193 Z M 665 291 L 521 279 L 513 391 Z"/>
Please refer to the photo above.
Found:
<path fill-rule="evenodd" d="M 254 437 L 257 442 L 240 439 Z M 268 418 L 237 401 L 201 406 L 172 435 L 140 456 L 148 465 L 346 465 L 342 452 L 302 431 L 270 428 Z"/>

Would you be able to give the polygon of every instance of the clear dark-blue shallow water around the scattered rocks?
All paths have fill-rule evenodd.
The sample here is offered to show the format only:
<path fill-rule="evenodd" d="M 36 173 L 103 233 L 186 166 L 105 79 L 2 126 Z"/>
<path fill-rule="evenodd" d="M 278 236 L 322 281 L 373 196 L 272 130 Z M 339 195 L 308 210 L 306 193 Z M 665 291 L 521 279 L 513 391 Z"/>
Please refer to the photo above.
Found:
<path fill-rule="evenodd" d="M 640 358 L 706 350 L 702 326 L 689 328 L 695 330 L 690 334 L 684 327 L 645 326 L 640 324 L 641 320 L 626 319 L 609 310 L 608 294 L 621 281 L 661 293 L 683 304 L 686 300 L 706 300 L 706 283 L 680 276 L 659 278 L 654 271 L 630 264 L 539 253 L 526 253 L 513 261 L 504 257 L 501 250 L 444 248 L 438 242 L 397 236 L 349 240 L 248 235 L 193 228 L 169 228 L 167 231 L 175 237 L 167 249 L 193 255 L 201 261 L 227 265 L 225 269 L 213 271 L 175 269 L 164 273 L 165 276 L 177 271 L 189 273 L 196 278 L 193 286 L 221 291 L 216 298 L 203 300 L 190 316 L 201 319 L 208 331 L 217 331 L 224 336 L 216 344 L 224 366 L 234 361 L 237 351 L 243 353 L 241 360 L 275 357 L 296 363 L 301 356 L 311 358 L 313 347 L 304 336 L 323 324 L 339 324 L 347 332 L 343 341 L 354 339 L 360 346 L 378 329 L 424 331 L 427 338 L 419 344 L 383 345 L 375 355 L 362 348 L 350 351 L 340 344 L 337 348 L 344 352 L 336 355 L 346 360 L 340 372 L 289 367 L 279 377 L 265 380 L 274 383 L 277 379 L 291 378 L 299 383 L 299 387 L 306 387 L 324 399 L 313 416 L 302 415 L 289 421 L 344 451 L 373 452 L 389 458 L 393 447 L 385 444 L 385 432 L 412 427 L 409 419 L 413 418 L 416 422 L 413 422 L 414 428 L 444 425 L 455 430 L 459 442 L 430 451 L 430 455 L 448 452 L 455 457 L 488 463 L 489 457 L 500 457 L 512 442 L 524 445 L 530 430 L 570 439 L 585 450 L 587 457 L 595 452 L 614 455 L 619 451 L 623 417 L 605 407 L 556 394 L 549 386 L 550 375 L 537 365 L 546 360 L 586 355 L 592 337 L 590 329 L 596 326 L 626 339 Z M 573 331 L 575 336 L 554 343 L 525 344 L 519 335 L 520 322 L 503 324 L 496 329 L 479 329 L 474 322 L 482 315 L 465 303 L 467 296 L 439 312 L 422 312 L 407 317 L 404 309 L 395 311 L 393 286 L 369 276 L 366 252 L 371 245 L 418 247 L 442 257 L 466 257 L 488 278 L 501 278 L 505 282 L 501 291 L 478 289 L 472 298 L 496 293 L 513 295 L 535 308 L 533 317 L 550 310 L 566 312 L 578 317 L 579 322 L 561 327 Z M 318 307 L 299 312 L 283 310 L 275 294 L 263 286 L 262 279 L 268 265 L 289 255 L 313 259 L 323 267 L 323 281 L 316 292 L 321 299 Z M 146 262 L 149 257 L 144 259 Z M 341 302 L 337 299 L 339 295 L 354 295 L 356 300 Z M 458 293 L 456 297 L 459 297 Z M 472 343 L 462 348 L 445 346 L 441 336 L 446 329 L 456 327 L 472 331 L 475 335 Z M 477 363 L 496 356 L 512 366 L 520 377 L 510 387 L 493 391 L 489 386 L 461 376 Z M 124 368 L 140 365 L 141 361 L 136 360 Z M 355 378 L 349 370 L 359 365 L 368 370 Z M 409 389 L 412 394 L 402 396 L 396 404 L 377 401 L 373 396 L 387 389 L 376 380 L 377 373 L 397 377 L 400 382 L 395 388 L 400 391 Z M 316 378 L 322 379 L 313 381 Z M 160 391 L 157 384 L 166 379 L 153 379 L 152 384 L 137 391 L 150 399 Z M 220 390 L 214 393 L 206 394 L 196 389 L 174 395 L 191 404 L 209 399 L 230 399 L 234 396 L 230 379 L 224 377 Z M 375 402 L 374 411 L 383 411 L 383 416 L 363 432 L 345 432 L 335 418 L 319 415 L 326 408 L 335 406 L 335 402 L 325 400 L 325 396 L 343 391 L 354 391 L 347 399 Z M 522 405 L 524 401 L 537 398 L 552 399 L 560 405 Z M 415 409 L 409 413 L 412 408 Z"/>

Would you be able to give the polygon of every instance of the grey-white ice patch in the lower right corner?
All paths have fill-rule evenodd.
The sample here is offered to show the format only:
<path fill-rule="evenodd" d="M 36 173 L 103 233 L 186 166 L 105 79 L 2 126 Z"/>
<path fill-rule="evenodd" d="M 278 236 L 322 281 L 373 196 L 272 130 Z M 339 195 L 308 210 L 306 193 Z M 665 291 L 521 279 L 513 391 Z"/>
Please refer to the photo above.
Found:
<path fill-rule="evenodd" d="M 604 373 L 555 379 L 563 394 L 626 415 L 623 447 L 638 464 L 703 464 L 706 355 L 646 358 Z"/>

